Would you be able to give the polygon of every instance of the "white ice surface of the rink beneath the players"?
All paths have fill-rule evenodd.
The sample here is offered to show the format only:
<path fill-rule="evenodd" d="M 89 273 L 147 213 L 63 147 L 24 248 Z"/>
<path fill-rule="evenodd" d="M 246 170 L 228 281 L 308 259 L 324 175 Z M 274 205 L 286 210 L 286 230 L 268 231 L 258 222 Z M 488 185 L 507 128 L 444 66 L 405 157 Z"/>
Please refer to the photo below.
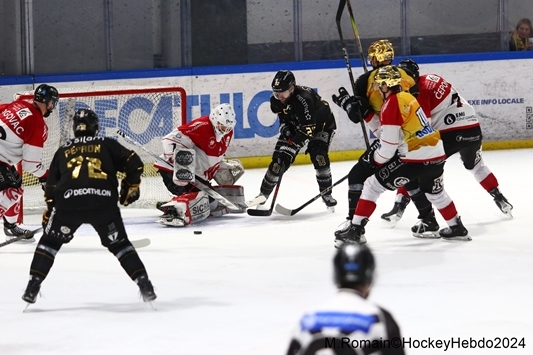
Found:
<path fill-rule="evenodd" d="M 488 151 L 484 160 L 514 205 L 514 219 L 501 216 L 454 156 L 446 163 L 445 188 L 472 241 L 414 238 L 412 205 L 396 228 L 387 228 L 379 217 L 392 207 L 392 192 L 381 196 L 367 225 L 377 259 L 370 299 L 412 341 L 407 354 L 533 353 L 533 149 Z M 334 181 L 352 165 L 332 164 Z M 247 199 L 258 193 L 264 172 L 248 170 L 240 180 Z M 278 202 L 296 208 L 317 193 L 312 165 L 293 166 Z M 185 228 L 154 223 L 155 209 L 125 209 L 130 239 L 151 240 L 138 252 L 156 287 L 156 310 L 141 301 L 95 232 L 82 226 L 58 253 L 37 303 L 23 313 L 20 297 L 36 243 L 3 247 L 0 354 L 283 354 L 299 317 L 335 292 L 333 232 L 345 219 L 346 194 L 346 182 L 334 189 L 335 213 L 317 200 L 292 217 L 232 214 Z M 37 227 L 40 216 L 28 215 L 25 223 Z M 525 348 L 420 345 L 485 339 L 503 347 L 513 338 L 524 339 Z"/>

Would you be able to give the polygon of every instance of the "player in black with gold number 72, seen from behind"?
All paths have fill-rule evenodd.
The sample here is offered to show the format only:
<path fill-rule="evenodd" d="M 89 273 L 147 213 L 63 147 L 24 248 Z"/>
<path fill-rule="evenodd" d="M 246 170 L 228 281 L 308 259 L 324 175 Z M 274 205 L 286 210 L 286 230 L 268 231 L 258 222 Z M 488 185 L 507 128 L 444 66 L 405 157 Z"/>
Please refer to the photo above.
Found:
<path fill-rule="evenodd" d="M 22 299 L 35 303 L 56 254 L 87 223 L 137 283 L 143 301 L 151 302 L 156 299 L 154 288 L 128 240 L 117 205 L 119 201 L 127 206 L 139 198 L 143 162 L 118 141 L 97 137 L 98 117 L 93 111 L 78 110 L 73 122 L 75 138 L 58 149 L 50 165 L 45 187 L 44 232 L 33 256 L 30 280 Z M 117 172 L 125 174 L 120 194 Z"/>

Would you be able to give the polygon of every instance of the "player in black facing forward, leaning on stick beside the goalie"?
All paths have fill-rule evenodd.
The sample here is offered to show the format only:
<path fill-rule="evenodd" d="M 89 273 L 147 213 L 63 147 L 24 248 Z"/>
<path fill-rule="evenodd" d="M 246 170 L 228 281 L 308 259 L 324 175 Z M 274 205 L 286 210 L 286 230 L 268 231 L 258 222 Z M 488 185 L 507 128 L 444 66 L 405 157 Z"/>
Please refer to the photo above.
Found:
<path fill-rule="evenodd" d="M 270 108 L 279 117 L 279 137 L 272 162 L 261 183 L 261 195 L 268 198 L 281 175 L 289 169 L 300 149 L 307 144 L 315 168 L 316 181 L 322 192 L 332 185 L 329 146 L 337 125 L 327 101 L 310 87 L 296 85 L 294 74 L 280 70 L 272 81 Z M 322 200 L 333 209 L 337 201 L 331 191 Z"/>

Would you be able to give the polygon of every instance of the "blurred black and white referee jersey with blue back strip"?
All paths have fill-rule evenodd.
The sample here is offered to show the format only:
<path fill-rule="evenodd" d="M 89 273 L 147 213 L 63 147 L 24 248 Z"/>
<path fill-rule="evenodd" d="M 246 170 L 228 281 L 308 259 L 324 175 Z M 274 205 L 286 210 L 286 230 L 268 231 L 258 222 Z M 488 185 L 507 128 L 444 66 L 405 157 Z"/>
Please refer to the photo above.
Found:
<path fill-rule="evenodd" d="M 402 347 L 389 345 L 396 337 L 400 338 L 400 329 L 389 312 L 355 290 L 340 289 L 325 305 L 304 314 L 287 355 L 328 348 L 345 349 L 343 354 L 404 354 Z"/>

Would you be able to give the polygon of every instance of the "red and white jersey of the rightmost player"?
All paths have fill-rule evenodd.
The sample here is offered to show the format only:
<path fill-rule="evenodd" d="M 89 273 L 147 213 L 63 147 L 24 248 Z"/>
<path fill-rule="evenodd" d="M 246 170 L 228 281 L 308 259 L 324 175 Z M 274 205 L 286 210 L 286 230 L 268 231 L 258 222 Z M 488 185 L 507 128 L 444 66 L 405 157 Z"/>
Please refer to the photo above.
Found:
<path fill-rule="evenodd" d="M 418 88 L 420 93 L 416 99 L 436 130 L 446 132 L 479 126 L 472 105 L 441 76 L 421 75 Z"/>

